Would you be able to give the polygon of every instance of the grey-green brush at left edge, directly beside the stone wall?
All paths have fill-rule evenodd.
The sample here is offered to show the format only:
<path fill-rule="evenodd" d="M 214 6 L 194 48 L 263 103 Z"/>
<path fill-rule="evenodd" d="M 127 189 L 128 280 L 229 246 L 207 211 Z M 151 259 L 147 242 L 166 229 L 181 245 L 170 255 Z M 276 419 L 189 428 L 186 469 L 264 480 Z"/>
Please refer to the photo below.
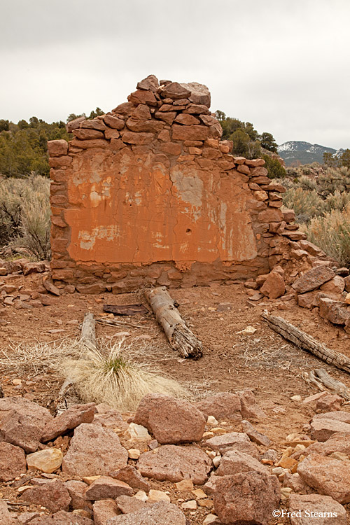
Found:
<path fill-rule="evenodd" d="M 26 248 L 50 258 L 50 181 L 43 176 L 0 184 L 0 246 Z"/>

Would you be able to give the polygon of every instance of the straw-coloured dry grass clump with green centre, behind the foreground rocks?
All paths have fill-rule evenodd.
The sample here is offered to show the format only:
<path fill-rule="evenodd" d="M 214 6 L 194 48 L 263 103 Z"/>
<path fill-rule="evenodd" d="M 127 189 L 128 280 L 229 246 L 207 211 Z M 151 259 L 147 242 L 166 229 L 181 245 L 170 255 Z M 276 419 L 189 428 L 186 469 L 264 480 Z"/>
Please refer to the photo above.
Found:
<path fill-rule="evenodd" d="M 97 346 L 103 350 L 85 347 L 78 358 L 63 364 L 82 400 L 104 402 L 119 410 L 132 411 L 148 393 L 188 398 L 188 390 L 177 381 L 134 360 L 140 348 L 132 349 L 125 339 L 115 343 L 100 340 Z"/>

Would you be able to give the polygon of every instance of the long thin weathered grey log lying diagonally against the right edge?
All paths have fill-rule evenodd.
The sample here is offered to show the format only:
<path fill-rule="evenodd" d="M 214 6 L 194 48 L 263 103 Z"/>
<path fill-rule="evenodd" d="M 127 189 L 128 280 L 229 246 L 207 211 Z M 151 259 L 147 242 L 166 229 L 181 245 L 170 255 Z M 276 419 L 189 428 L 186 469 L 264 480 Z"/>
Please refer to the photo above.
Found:
<path fill-rule="evenodd" d="M 262 312 L 261 316 L 267 321 L 272 330 L 281 334 L 288 341 L 291 341 L 303 350 L 313 353 L 314 356 L 322 359 L 328 365 L 334 365 L 340 370 L 350 373 L 350 359 L 344 356 L 343 353 L 331 350 L 325 344 L 311 337 L 311 335 L 302 332 L 302 330 L 299 330 L 299 328 L 296 328 L 296 326 L 288 323 L 281 317 L 272 316 L 266 310 Z"/>

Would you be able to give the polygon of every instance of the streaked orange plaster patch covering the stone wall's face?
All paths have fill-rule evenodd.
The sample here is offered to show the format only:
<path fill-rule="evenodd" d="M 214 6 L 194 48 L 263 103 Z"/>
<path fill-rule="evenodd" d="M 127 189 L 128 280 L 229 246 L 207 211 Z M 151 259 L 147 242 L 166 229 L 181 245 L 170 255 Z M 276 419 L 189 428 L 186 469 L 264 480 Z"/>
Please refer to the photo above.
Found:
<path fill-rule="evenodd" d="M 177 163 L 153 153 L 87 150 L 68 181 L 69 255 L 76 262 L 239 262 L 257 255 L 251 192 L 239 174 Z"/>

